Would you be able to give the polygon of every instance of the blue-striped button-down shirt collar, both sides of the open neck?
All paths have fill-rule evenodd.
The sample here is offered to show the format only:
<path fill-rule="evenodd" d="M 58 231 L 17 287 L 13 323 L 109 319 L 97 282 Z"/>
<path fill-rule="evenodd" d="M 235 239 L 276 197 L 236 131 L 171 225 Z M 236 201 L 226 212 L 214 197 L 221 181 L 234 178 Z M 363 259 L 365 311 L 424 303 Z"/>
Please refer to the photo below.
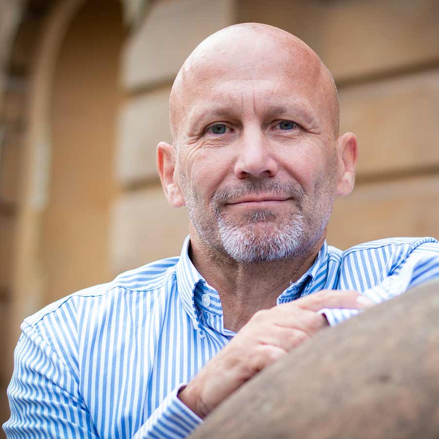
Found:
<path fill-rule="evenodd" d="M 187 236 L 181 248 L 180 259 L 176 266 L 178 294 L 183 308 L 192 319 L 200 336 L 203 337 L 203 331 L 201 329 L 199 318 L 200 306 L 196 306 L 196 301 L 200 302 L 198 299 L 201 297 L 199 290 L 202 289 L 208 291 L 211 297 L 213 293 L 218 296 L 218 293 L 207 284 L 207 282 L 195 268 L 194 264 L 189 258 L 189 245 L 190 236 Z M 321 271 L 322 266 L 326 265 L 327 257 L 328 245 L 325 240 L 313 265 L 300 277 L 300 279 L 294 283 L 292 282 L 290 286 L 283 291 L 282 294 L 280 294 L 278 297 L 278 304 L 289 302 L 309 294 L 312 291 L 312 286 L 317 278 L 317 275 Z M 197 288 L 197 286 L 199 286 L 199 288 Z M 218 296 L 218 301 L 219 300 L 220 299 Z M 199 303 L 199 305 L 201 305 L 201 303 Z M 215 304 L 213 304 L 213 306 L 215 306 Z"/>

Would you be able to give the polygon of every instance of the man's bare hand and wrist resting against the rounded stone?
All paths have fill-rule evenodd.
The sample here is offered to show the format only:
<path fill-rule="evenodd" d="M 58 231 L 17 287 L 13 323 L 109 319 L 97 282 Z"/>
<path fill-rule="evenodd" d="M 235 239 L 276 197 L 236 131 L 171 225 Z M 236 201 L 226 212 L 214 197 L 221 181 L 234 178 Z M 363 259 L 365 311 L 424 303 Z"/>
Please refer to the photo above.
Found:
<path fill-rule="evenodd" d="M 258 311 L 180 391 L 179 398 L 204 418 L 245 381 L 327 326 L 319 310 L 371 305 L 372 301 L 355 291 L 323 290 Z"/>

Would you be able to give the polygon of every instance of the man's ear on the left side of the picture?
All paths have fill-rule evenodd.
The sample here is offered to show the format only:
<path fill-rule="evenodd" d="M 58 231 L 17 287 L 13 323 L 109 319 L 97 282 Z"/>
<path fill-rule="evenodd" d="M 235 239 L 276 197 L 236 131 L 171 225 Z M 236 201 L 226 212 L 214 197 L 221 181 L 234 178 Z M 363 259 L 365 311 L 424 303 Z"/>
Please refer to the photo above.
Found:
<path fill-rule="evenodd" d="M 176 181 L 175 148 L 166 142 L 157 145 L 157 170 L 168 203 L 172 207 L 184 206 L 184 198 Z"/>

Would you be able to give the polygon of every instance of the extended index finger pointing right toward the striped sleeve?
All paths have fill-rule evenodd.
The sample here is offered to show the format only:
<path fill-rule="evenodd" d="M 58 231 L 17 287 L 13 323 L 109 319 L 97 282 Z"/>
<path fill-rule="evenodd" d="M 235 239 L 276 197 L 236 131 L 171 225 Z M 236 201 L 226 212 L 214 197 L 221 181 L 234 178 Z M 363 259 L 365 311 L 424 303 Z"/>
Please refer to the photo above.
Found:
<path fill-rule="evenodd" d="M 290 303 L 316 312 L 323 308 L 365 309 L 374 305 L 372 300 L 350 290 L 323 290 Z"/>

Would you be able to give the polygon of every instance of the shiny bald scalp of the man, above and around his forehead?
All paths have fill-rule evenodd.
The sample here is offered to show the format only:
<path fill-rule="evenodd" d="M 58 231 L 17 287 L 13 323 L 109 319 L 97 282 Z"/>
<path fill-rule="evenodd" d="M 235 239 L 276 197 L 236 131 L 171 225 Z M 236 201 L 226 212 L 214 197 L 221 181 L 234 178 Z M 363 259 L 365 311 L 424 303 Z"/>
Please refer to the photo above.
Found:
<path fill-rule="evenodd" d="M 302 40 L 279 28 L 260 23 L 242 23 L 221 29 L 203 40 L 183 63 L 174 81 L 169 102 L 174 144 L 178 143 L 181 120 L 197 92 L 216 82 L 278 75 L 299 83 L 319 100 L 319 117 L 326 118 L 333 137 L 339 134 L 339 100 L 334 79 L 318 55 Z"/>

